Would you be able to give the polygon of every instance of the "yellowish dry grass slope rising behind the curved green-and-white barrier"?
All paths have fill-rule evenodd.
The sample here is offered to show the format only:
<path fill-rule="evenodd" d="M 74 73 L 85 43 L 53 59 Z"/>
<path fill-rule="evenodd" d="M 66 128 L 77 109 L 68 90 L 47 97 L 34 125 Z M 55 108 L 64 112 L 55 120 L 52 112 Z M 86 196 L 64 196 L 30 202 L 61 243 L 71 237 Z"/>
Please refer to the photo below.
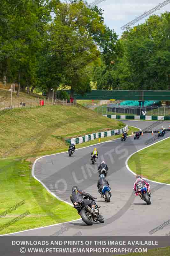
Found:
<path fill-rule="evenodd" d="M 67 147 L 64 138 L 119 129 L 124 124 L 78 107 L 44 106 L 0 111 L 0 157 Z"/>

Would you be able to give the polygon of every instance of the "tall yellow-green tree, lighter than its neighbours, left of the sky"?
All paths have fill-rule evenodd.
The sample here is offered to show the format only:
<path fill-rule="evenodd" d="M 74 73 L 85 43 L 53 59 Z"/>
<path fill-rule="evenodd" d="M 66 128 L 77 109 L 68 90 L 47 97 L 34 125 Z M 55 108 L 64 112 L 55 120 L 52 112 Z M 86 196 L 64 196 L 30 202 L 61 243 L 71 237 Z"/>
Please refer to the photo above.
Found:
<path fill-rule="evenodd" d="M 104 31 L 98 14 L 78 3 L 57 4 L 55 19 L 49 25 L 49 51 L 54 58 L 61 81 L 74 92 L 90 91 L 90 72 L 88 66 L 95 61 L 100 52 L 93 38 L 98 31 Z"/>

